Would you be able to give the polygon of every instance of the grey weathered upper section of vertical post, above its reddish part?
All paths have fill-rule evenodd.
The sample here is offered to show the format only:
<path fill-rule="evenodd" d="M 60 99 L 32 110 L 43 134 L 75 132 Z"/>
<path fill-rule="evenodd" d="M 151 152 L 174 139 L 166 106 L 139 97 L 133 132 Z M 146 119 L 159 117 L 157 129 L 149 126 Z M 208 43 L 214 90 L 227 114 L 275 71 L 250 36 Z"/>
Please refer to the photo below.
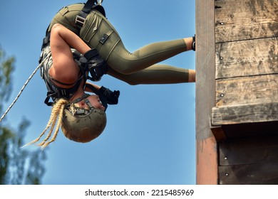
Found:
<path fill-rule="evenodd" d="M 215 24 L 213 0 L 196 1 L 196 128 L 197 139 L 212 136 L 210 131 L 211 108 L 215 106 Z"/>

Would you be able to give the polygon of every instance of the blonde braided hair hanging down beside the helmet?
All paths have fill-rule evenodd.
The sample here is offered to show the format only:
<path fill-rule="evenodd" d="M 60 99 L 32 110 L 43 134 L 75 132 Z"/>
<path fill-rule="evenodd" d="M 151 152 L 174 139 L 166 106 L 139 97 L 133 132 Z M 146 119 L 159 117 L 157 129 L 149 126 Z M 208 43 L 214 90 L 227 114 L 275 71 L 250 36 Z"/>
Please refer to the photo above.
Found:
<path fill-rule="evenodd" d="M 62 124 L 62 119 L 63 119 L 63 110 L 65 109 L 66 105 L 68 105 L 69 102 L 66 99 L 58 99 L 58 101 L 55 102 L 55 104 L 53 104 L 53 107 L 51 109 L 51 116 L 48 120 L 48 124 L 46 125 L 46 129 L 43 130 L 43 132 L 41 133 L 40 136 L 38 136 L 37 139 L 35 139 L 34 141 L 29 142 L 28 144 L 24 145 L 24 146 L 28 146 L 30 144 L 34 144 L 36 143 L 39 139 L 41 139 L 41 136 L 43 136 L 43 134 L 46 133 L 46 130 L 51 127 L 49 129 L 48 135 L 46 136 L 46 138 L 40 143 L 38 144 L 38 146 L 41 146 L 41 149 L 43 150 L 46 146 L 48 146 L 48 144 L 51 144 L 51 142 L 55 141 L 57 135 L 58 135 L 58 131 L 61 127 Z M 56 129 L 54 131 L 54 134 L 52 136 L 52 139 L 50 141 L 48 141 L 48 139 L 51 137 L 51 134 L 53 132 L 54 127 L 56 126 Z M 22 147 L 24 147 L 22 146 Z"/>

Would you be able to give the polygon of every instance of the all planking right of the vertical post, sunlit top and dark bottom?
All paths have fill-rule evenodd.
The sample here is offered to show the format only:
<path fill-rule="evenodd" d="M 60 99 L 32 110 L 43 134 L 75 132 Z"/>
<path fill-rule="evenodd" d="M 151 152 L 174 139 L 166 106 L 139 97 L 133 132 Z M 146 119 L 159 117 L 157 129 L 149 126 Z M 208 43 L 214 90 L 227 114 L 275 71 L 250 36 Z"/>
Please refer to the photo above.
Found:
<path fill-rule="evenodd" d="M 278 184 L 277 0 L 215 0 L 213 95 L 218 183 Z"/>

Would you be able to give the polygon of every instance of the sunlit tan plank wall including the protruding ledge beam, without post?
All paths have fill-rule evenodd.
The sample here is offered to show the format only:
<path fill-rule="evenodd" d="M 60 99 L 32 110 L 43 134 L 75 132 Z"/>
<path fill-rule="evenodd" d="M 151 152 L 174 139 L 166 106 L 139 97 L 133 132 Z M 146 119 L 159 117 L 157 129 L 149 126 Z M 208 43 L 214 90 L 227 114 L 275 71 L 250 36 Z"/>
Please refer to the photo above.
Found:
<path fill-rule="evenodd" d="M 215 1 L 213 125 L 278 120 L 277 43 L 277 0 Z"/>

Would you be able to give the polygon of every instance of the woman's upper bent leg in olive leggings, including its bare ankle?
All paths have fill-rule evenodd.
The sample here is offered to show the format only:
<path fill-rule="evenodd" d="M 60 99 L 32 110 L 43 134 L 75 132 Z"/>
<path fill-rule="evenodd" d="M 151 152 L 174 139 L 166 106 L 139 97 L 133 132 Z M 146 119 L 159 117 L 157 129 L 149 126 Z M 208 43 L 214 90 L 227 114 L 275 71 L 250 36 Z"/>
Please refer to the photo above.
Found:
<path fill-rule="evenodd" d="M 101 42 L 105 35 L 107 38 Z M 192 45 L 192 38 L 184 38 L 152 43 L 130 53 L 125 49 L 112 24 L 97 11 L 92 11 L 87 16 L 80 36 L 91 48 L 98 50 L 110 68 L 125 75 L 138 72 L 186 50 L 191 50 Z"/>

